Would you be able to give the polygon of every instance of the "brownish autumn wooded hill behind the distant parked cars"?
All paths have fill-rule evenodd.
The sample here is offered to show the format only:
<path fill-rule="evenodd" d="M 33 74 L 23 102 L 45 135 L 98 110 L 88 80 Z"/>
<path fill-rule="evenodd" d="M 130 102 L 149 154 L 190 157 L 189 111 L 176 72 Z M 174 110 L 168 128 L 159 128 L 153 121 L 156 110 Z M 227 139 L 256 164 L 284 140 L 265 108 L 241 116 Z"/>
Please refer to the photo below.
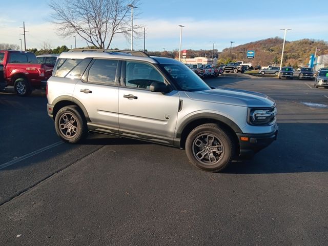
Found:
<path fill-rule="evenodd" d="M 267 38 L 256 42 L 223 49 L 219 53 L 219 59 L 232 58 L 234 60 L 252 61 L 253 65 L 267 66 L 280 64 L 283 39 L 280 37 Z M 309 63 L 310 55 L 315 53 L 316 48 L 320 49 L 317 55 L 328 54 L 328 43 L 323 40 L 301 39 L 285 43 L 283 65 L 284 66 L 306 66 Z M 254 59 L 247 59 L 248 50 L 255 51 Z"/>

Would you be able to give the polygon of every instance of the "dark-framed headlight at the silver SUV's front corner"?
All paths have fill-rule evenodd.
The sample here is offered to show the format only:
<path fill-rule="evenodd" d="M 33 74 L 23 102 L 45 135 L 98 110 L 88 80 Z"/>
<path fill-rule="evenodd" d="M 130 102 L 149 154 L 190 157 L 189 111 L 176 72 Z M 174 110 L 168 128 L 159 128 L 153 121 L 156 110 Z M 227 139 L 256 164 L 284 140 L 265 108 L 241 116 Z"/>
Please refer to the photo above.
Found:
<path fill-rule="evenodd" d="M 276 122 L 277 109 L 273 108 L 249 108 L 248 123 L 250 125 L 268 126 Z"/>

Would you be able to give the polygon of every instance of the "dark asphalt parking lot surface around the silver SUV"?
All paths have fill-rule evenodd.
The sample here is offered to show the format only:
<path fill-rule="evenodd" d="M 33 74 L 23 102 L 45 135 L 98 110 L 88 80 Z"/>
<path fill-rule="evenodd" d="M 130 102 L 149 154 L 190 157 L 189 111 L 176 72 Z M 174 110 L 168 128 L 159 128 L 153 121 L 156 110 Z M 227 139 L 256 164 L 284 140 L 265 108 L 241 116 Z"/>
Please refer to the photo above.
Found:
<path fill-rule="evenodd" d="M 56 136 L 44 91 L 0 93 L 1 245 L 326 245 L 328 89 L 309 80 L 207 79 L 276 100 L 277 141 L 223 173 L 185 151 Z"/>

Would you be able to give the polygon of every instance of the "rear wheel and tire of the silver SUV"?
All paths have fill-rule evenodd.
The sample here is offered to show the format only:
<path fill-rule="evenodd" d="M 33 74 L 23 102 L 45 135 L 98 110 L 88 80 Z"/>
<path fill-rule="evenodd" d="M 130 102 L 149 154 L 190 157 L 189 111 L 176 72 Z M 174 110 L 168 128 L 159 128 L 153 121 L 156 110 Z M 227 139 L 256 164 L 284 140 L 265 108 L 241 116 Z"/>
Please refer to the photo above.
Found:
<path fill-rule="evenodd" d="M 87 122 L 77 106 L 61 108 L 55 117 L 57 135 L 65 142 L 75 144 L 88 135 Z"/>

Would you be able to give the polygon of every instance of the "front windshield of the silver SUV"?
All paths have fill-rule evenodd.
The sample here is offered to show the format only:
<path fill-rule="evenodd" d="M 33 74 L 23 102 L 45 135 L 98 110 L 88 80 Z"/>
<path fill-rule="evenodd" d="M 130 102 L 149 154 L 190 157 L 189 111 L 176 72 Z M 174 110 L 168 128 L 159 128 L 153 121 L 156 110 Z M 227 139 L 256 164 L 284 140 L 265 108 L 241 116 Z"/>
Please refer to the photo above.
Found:
<path fill-rule="evenodd" d="M 196 73 L 186 66 L 179 64 L 160 64 L 160 66 L 169 73 L 181 91 L 204 91 L 211 89 Z"/>

